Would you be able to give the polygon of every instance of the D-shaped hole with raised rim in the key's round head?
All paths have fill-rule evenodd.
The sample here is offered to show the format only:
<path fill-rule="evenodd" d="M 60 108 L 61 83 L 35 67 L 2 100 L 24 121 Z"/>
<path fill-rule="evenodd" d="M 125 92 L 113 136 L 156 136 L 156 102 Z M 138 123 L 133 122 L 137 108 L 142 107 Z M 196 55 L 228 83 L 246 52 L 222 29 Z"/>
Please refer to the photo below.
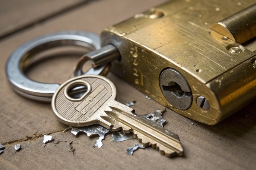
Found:
<path fill-rule="evenodd" d="M 64 90 L 65 97 L 73 102 L 83 100 L 91 92 L 91 85 L 83 80 L 70 82 Z"/>

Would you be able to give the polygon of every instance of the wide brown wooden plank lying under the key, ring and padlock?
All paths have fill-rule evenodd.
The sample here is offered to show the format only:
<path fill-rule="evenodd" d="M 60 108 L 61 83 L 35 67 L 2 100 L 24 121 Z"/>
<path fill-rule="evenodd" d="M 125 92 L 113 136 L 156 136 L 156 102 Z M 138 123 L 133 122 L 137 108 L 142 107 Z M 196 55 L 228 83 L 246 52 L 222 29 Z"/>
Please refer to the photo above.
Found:
<path fill-rule="evenodd" d="M 76 137 L 70 131 L 63 133 L 67 126 L 57 121 L 49 104 L 25 99 L 9 86 L 5 63 L 9 54 L 23 42 L 67 29 L 100 34 L 103 28 L 164 1 L 92 1 L 0 39 L 0 143 L 6 146 L 4 153 L 0 154 L 0 169 L 256 169 L 256 102 L 214 126 L 195 122 L 167 109 L 163 114 L 167 119 L 165 128 L 178 134 L 184 156 L 168 158 L 151 147 L 128 156 L 125 150 L 137 144 L 137 139 L 115 143 L 108 134 L 103 147 L 94 148 L 98 136 L 80 134 Z M 18 15 L 12 7 L 8 6 L 9 10 L 1 13 L 1 17 Z M 59 10 L 53 5 L 49 8 L 52 8 L 49 13 Z M 12 14 L 7 11 L 12 11 Z M 0 22 L 0 28 L 4 25 L 7 24 Z M 27 76 L 41 82 L 61 83 L 68 79 L 79 56 L 62 51 L 58 56 L 47 54 L 45 58 L 32 66 Z M 136 113 L 146 114 L 163 108 L 154 100 L 145 99 L 144 94 L 113 74 L 108 78 L 116 85 L 119 102 L 137 101 L 133 106 Z M 42 143 L 44 134 L 55 138 L 45 147 Z M 71 142 L 76 149 L 74 153 L 70 150 Z M 22 147 L 18 152 L 14 150 L 17 143 Z"/>

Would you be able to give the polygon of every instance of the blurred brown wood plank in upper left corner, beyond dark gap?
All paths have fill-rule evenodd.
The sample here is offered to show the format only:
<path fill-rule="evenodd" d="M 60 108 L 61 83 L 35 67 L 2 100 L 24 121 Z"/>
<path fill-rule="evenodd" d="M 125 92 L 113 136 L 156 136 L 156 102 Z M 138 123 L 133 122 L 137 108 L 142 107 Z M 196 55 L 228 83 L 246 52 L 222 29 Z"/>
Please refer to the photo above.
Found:
<path fill-rule="evenodd" d="M 87 0 L 5 0 L 0 5 L 0 37 L 35 24 Z"/>

